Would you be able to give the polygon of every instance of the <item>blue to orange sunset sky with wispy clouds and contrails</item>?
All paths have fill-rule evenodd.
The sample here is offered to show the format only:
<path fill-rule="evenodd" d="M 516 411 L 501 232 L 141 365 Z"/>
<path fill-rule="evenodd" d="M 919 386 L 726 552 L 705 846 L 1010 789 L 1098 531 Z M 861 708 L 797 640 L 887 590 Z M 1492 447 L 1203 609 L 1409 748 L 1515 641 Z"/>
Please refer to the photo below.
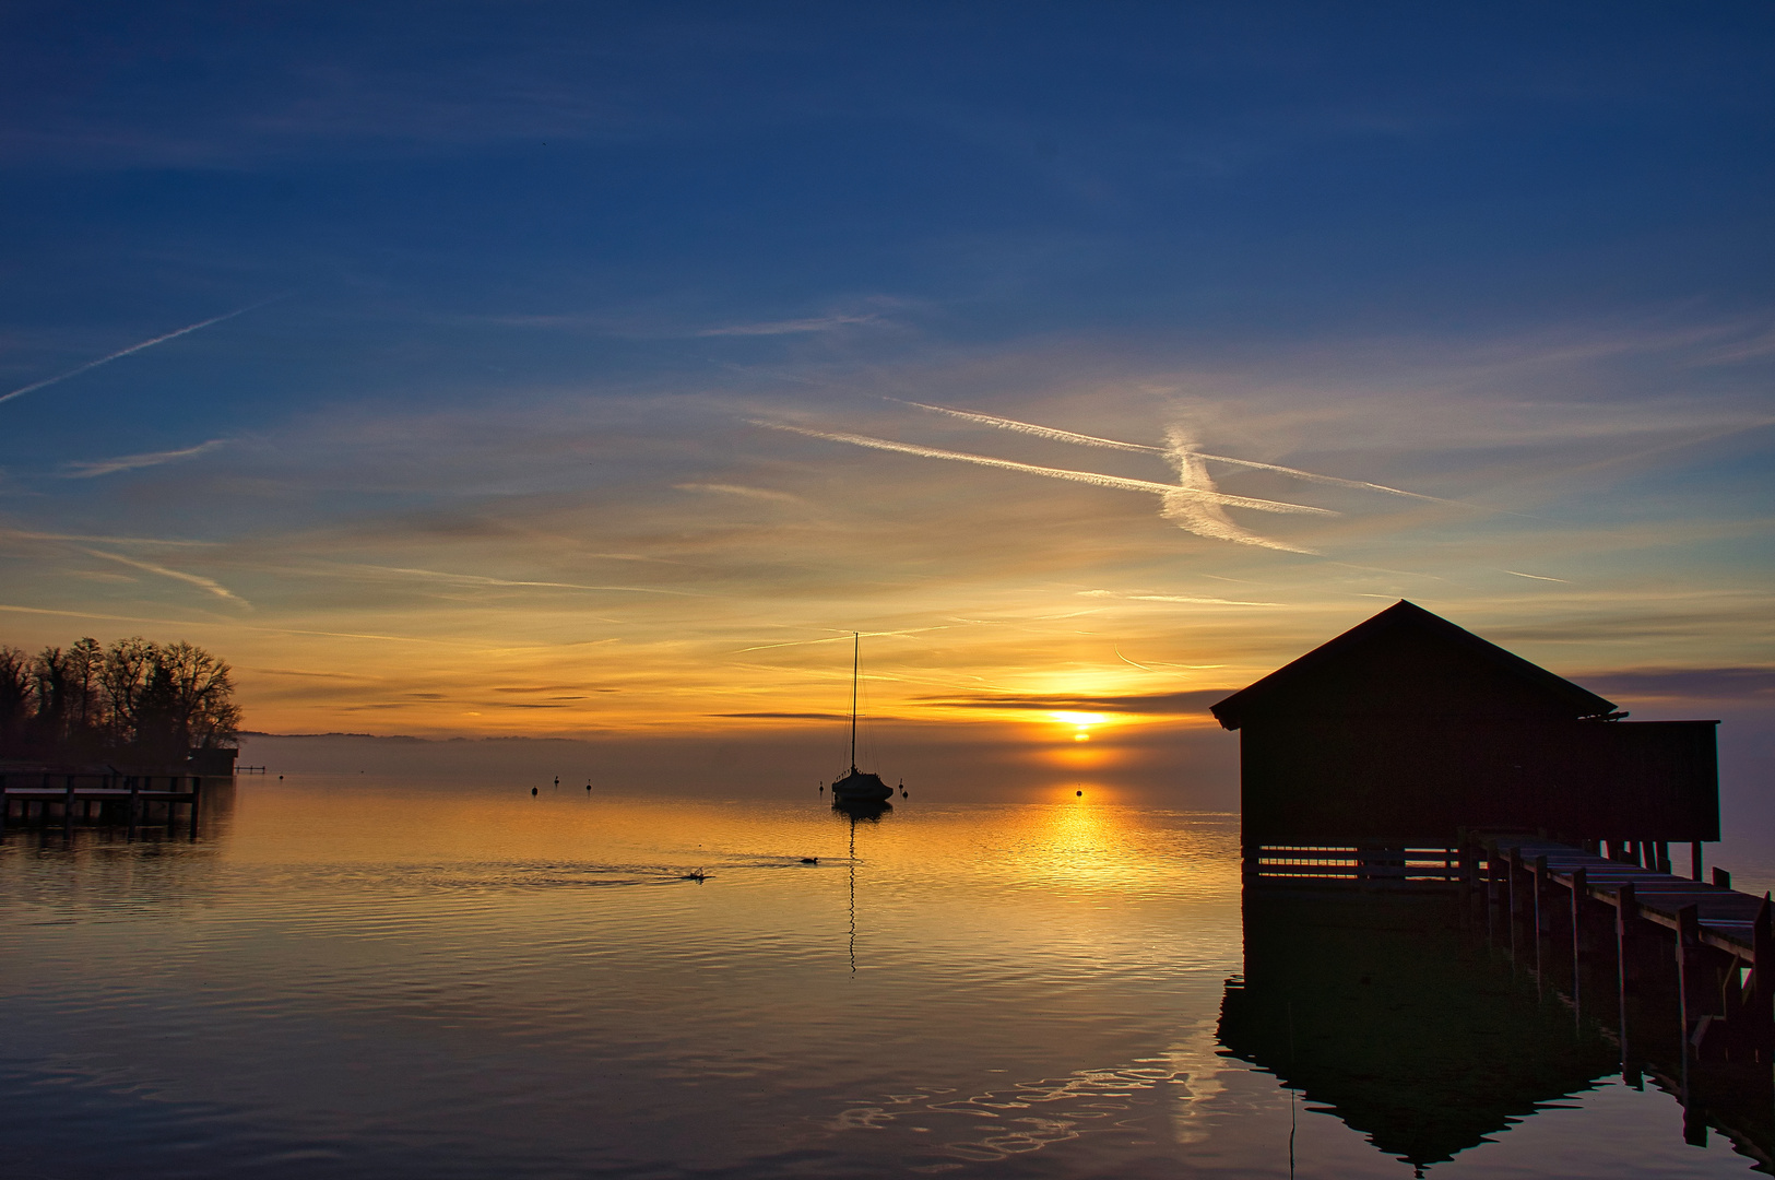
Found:
<path fill-rule="evenodd" d="M 1042 740 L 1409 598 L 1775 731 L 1766 4 L 0 11 L 0 641 Z M 1006 729 L 1008 728 L 1008 729 Z M 1761 728 L 1761 729 L 1759 729 Z M 1228 738 L 1230 740 L 1230 738 Z"/>

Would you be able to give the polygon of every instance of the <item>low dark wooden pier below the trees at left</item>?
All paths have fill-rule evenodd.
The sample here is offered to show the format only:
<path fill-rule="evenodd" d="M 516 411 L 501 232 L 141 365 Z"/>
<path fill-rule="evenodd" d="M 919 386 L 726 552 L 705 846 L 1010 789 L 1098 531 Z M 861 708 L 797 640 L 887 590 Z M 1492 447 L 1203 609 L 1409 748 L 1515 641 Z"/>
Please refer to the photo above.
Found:
<path fill-rule="evenodd" d="M 193 774 L 0 774 L 0 832 L 11 823 L 59 820 L 176 830 L 179 820 L 197 839 L 204 781 Z M 183 813 L 183 816 L 181 816 Z"/>

